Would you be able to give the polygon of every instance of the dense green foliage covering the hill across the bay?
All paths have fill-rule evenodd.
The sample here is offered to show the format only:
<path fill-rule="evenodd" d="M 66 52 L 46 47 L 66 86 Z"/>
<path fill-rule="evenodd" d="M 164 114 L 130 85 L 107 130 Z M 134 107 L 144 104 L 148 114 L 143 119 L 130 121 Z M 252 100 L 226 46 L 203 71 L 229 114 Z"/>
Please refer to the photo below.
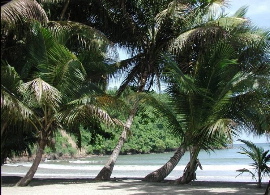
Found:
<path fill-rule="evenodd" d="M 151 95 L 158 99 L 160 103 L 163 103 L 164 106 L 168 102 L 166 94 L 152 92 Z M 172 133 L 171 123 L 168 121 L 168 118 L 163 116 L 164 113 L 158 112 L 157 108 L 150 104 L 145 103 L 142 105 L 131 126 L 128 140 L 122 147 L 121 154 L 174 151 L 182 142 L 181 135 Z M 125 118 L 124 112 L 115 112 L 114 110 L 112 115 L 118 119 L 122 118 L 122 120 Z M 85 150 L 86 154 L 111 154 L 122 132 L 121 127 L 107 127 L 105 125 L 80 126 L 79 129 L 81 133 L 81 148 Z M 229 143 L 226 137 L 223 140 L 224 143 Z M 57 133 L 55 150 L 47 149 L 46 152 L 68 154 L 72 147 L 68 144 L 63 147 L 63 143 L 67 143 L 66 138 Z M 219 142 L 212 144 L 212 149 L 223 147 L 224 144 L 219 144 Z"/>

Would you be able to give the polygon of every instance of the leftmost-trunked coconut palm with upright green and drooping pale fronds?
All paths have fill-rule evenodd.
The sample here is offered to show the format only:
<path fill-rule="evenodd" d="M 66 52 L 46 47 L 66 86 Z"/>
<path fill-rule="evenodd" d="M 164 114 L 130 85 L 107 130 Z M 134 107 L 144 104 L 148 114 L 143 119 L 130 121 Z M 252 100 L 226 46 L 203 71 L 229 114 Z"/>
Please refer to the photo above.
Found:
<path fill-rule="evenodd" d="M 38 133 L 38 149 L 33 165 L 26 176 L 17 183 L 18 186 L 27 185 L 33 178 L 44 148 L 50 142 L 54 131 L 62 127 L 58 112 L 65 102 L 74 98 L 73 94 L 76 94 L 78 89 L 84 87 L 85 81 L 82 64 L 74 54 L 53 38 L 49 30 L 35 24 L 33 32 L 33 36 L 27 42 L 30 64 L 26 66 L 33 67 L 36 64 L 36 71 L 33 72 L 33 80 L 19 86 L 19 93 L 21 101 L 32 112 L 33 118 L 28 120 Z M 43 45 L 38 44 L 37 49 L 37 43 Z M 91 103 L 84 101 L 88 115 L 96 121 L 111 121 L 106 112 Z"/>

